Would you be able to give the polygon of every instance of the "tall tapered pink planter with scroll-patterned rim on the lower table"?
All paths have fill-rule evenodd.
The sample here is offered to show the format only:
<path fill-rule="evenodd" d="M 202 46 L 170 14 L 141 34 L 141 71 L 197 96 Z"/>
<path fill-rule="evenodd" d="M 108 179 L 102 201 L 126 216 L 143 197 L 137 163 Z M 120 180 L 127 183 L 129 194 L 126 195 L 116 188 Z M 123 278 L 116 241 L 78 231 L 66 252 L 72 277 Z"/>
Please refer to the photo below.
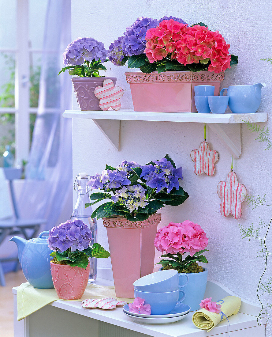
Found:
<path fill-rule="evenodd" d="M 134 298 L 134 281 L 153 273 L 154 240 L 160 221 L 161 214 L 139 222 L 117 216 L 103 218 L 117 297 Z"/>

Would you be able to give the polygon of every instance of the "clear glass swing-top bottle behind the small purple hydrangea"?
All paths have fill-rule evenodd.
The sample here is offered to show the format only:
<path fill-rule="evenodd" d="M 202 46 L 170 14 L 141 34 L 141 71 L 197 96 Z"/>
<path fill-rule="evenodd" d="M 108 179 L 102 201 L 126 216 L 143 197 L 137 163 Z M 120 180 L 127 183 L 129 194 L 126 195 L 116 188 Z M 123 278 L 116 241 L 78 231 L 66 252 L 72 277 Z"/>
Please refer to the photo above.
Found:
<path fill-rule="evenodd" d="M 97 222 L 96 218 L 92 218 L 92 207 L 85 208 L 85 204 L 90 202 L 89 198 L 89 187 L 86 184 L 89 181 L 90 176 L 87 173 L 79 173 L 79 175 L 75 179 L 74 183 L 74 190 L 78 194 L 77 201 L 72 213 L 70 220 L 79 219 L 82 220 L 88 227 L 91 229 L 93 234 L 93 243 L 97 242 Z M 93 257 L 90 259 L 91 261 L 91 268 L 90 268 L 90 276 L 89 282 L 92 283 L 96 280 L 96 273 L 97 273 L 97 258 Z"/>

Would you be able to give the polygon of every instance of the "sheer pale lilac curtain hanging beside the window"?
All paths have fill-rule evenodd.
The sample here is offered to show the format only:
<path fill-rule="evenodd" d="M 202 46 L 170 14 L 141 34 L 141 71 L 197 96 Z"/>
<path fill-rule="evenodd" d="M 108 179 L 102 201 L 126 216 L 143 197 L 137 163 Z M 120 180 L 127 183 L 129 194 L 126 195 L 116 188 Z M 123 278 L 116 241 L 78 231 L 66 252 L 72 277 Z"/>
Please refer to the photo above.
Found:
<path fill-rule="evenodd" d="M 68 72 L 58 76 L 70 42 L 71 1 L 49 0 L 38 113 L 18 203 L 22 217 L 46 219 L 41 230 L 56 225 L 72 193 L 72 126 L 69 118 L 62 117 L 64 110 L 71 109 L 71 76 Z"/>

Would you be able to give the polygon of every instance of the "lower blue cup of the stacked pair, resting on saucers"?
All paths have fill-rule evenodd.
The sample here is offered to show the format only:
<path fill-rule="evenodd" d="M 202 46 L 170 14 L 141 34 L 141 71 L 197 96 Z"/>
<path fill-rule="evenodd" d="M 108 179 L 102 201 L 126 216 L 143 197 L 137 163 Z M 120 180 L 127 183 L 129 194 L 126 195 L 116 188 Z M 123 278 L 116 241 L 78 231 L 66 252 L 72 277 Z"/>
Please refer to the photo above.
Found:
<path fill-rule="evenodd" d="M 182 293 L 183 296 L 179 300 L 180 293 Z M 185 299 L 185 292 L 177 289 L 174 292 L 150 293 L 141 292 L 134 288 L 134 297 L 140 297 L 144 300 L 144 304 L 150 304 L 151 315 L 166 315 L 174 309 L 177 303 Z"/>

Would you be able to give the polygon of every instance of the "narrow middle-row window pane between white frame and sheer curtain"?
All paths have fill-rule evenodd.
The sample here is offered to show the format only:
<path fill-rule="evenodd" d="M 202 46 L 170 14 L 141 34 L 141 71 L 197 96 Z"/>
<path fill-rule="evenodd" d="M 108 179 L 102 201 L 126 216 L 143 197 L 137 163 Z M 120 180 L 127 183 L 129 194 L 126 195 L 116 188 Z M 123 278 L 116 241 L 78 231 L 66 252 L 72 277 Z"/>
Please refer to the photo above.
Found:
<path fill-rule="evenodd" d="M 40 72 L 41 72 L 41 53 L 30 53 L 29 106 L 31 108 L 38 107 Z"/>

